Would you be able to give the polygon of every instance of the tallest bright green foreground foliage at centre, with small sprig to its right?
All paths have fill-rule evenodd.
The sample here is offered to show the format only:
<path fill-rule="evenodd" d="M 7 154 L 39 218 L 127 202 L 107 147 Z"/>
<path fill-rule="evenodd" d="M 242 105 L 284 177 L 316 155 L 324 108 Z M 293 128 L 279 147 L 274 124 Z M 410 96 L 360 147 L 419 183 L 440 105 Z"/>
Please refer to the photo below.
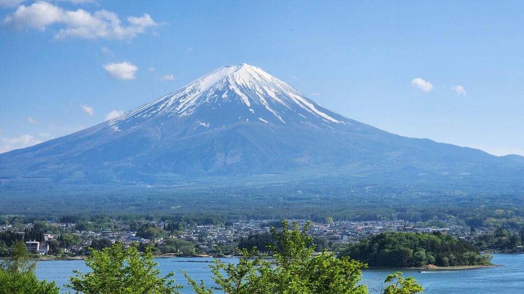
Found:
<path fill-rule="evenodd" d="M 242 258 L 237 265 L 214 262 L 215 287 L 206 288 L 202 280 L 199 284 L 187 273 L 184 276 L 197 294 L 212 294 L 213 290 L 226 294 L 367 294 L 366 286 L 358 284 L 365 264 L 327 252 L 312 257 L 315 245 L 307 235 L 309 225 L 300 230 L 294 222 L 290 229 L 288 222 L 283 221 L 280 231 L 271 228 L 275 243 L 266 247 L 274 253 L 274 267 L 264 261 L 264 255 L 259 255 L 256 248 L 249 252 L 243 248 L 238 250 Z M 422 291 L 411 277 L 404 279 L 397 274 L 386 282 L 394 278 L 397 286 L 387 287 L 387 294 Z"/>

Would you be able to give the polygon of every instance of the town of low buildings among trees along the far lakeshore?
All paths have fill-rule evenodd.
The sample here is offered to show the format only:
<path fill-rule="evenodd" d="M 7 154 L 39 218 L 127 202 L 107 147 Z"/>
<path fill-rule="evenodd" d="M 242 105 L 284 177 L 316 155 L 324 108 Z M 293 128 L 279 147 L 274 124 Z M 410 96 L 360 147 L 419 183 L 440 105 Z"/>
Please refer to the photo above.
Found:
<path fill-rule="evenodd" d="M 303 227 L 308 220 L 296 221 Z M 520 220 L 524 222 L 524 220 Z M 242 240 L 253 236 L 267 234 L 271 226 L 278 227 L 277 220 L 243 220 L 224 224 L 174 223 L 156 220 L 140 220 L 138 223 L 117 219 L 105 219 L 105 227 L 93 230 L 81 230 L 93 227 L 92 222 L 58 223 L 36 222 L 26 224 L 3 224 L 0 227 L 0 253 L 6 254 L 9 245 L 15 241 L 24 241 L 31 253 L 37 255 L 54 255 L 59 258 L 74 258 L 89 254 L 89 248 L 102 249 L 115 242 L 125 246 L 137 243 L 142 250 L 151 246 L 157 255 L 170 256 L 230 256 L 236 253 L 235 248 L 242 246 Z M 428 227 L 426 225 L 429 225 Z M 135 229 L 136 228 L 136 229 Z M 132 230 L 134 229 L 134 230 Z M 313 222 L 308 233 L 323 246 L 318 251 L 340 251 L 348 244 L 356 243 L 372 235 L 388 232 L 433 233 L 439 231 L 452 235 L 456 239 L 465 239 L 479 244 L 477 239 L 489 236 L 495 230 L 471 228 L 449 220 L 428 222 L 393 221 L 335 221 L 330 218 L 324 223 Z M 504 230 L 515 239 L 514 245 L 505 248 L 485 246 L 481 250 L 504 250 L 505 252 L 522 252 L 522 238 L 518 231 Z M 522 232 L 520 232 L 522 234 Z M 521 236 L 520 236 L 521 237 Z"/>

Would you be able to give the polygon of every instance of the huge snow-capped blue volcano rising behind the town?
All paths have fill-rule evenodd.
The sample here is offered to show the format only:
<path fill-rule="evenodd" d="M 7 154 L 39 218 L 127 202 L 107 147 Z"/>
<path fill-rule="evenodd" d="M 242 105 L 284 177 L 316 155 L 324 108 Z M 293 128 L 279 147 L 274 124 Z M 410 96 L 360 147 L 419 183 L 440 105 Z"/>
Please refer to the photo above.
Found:
<path fill-rule="evenodd" d="M 79 132 L 0 154 L 0 188 L 278 175 L 374 183 L 523 183 L 521 156 L 406 138 L 346 118 L 248 64 Z M 261 180 L 264 183 L 264 180 Z M 224 183 L 221 183 L 224 185 Z"/>

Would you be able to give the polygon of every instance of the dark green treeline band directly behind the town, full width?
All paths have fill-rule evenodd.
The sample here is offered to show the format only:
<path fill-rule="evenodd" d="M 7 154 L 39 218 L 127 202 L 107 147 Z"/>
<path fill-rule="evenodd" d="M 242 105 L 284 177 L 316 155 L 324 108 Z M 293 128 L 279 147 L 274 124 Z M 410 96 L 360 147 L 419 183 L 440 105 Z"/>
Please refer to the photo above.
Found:
<path fill-rule="evenodd" d="M 278 198 L 278 197 L 277 197 Z M 307 198 L 307 197 L 306 197 Z M 330 199 L 324 206 L 302 207 L 302 201 L 289 201 L 285 206 L 271 207 L 271 209 L 260 209 L 254 205 L 254 199 L 246 199 L 238 210 L 214 210 L 213 207 L 200 207 L 202 212 L 172 212 L 162 211 L 156 213 L 72 213 L 66 215 L 47 215 L 41 213 L 38 216 L 0 216 L 0 225 L 16 223 L 38 223 L 39 221 L 53 221 L 61 223 L 81 223 L 78 230 L 93 230 L 100 228 L 100 224 L 106 223 L 109 219 L 119 219 L 123 221 L 133 220 L 157 220 L 177 223 L 194 224 L 227 224 L 237 220 L 249 219 L 309 219 L 314 222 L 333 221 L 372 221 L 372 220 L 406 220 L 410 222 L 428 222 L 431 220 L 454 219 L 461 220 L 470 227 L 498 228 L 519 230 L 521 224 L 519 219 L 524 218 L 524 208 L 514 206 L 511 208 L 489 208 L 484 206 L 432 206 L 425 205 L 424 208 L 412 207 L 419 201 L 413 200 L 409 205 L 374 207 L 366 208 L 355 207 L 357 199 L 347 203 L 350 199 Z M 208 202 L 205 202 L 208 203 Z M 268 204 L 269 205 L 269 204 Z M 305 205 L 305 204 L 304 204 Z M 255 208 L 250 208 L 255 207 Z"/>

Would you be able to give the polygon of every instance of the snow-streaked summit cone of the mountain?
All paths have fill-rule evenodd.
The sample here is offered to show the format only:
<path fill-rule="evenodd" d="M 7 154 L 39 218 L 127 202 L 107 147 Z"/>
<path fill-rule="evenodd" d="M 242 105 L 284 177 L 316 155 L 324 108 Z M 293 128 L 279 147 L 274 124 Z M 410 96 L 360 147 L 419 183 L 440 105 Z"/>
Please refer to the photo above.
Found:
<path fill-rule="evenodd" d="M 221 111 L 224 108 L 227 108 L 226 114 Z M 190 116 L 199 125 L 211 129 L 238 121 L 275 125 L 310 123 L 320 128 L 346 125 L 350 121 L 258 67 L 241 64 L 220 67 L 176 92 L 112 119 L 107 127 L 133 129 L 155 117 L 165 121 L 170 117 Z"/>

